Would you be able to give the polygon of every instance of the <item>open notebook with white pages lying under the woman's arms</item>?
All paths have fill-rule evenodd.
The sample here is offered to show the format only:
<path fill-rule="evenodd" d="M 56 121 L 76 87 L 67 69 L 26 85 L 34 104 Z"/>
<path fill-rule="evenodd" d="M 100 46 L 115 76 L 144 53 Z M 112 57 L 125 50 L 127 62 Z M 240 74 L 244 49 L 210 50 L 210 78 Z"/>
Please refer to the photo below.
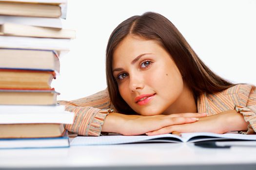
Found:
<path fill-rule="evenodd" d="M 182 133 L 181 136 L 164 134 L 157 136 L 78 136 L 71 142 L 71 146 L 79 145 L 111 145 L 138 142 L 199 142 L 206 140 L 255 140 L 256 135 L 243 135 L 238 133 L 214 134 L 208 132 Z"/>

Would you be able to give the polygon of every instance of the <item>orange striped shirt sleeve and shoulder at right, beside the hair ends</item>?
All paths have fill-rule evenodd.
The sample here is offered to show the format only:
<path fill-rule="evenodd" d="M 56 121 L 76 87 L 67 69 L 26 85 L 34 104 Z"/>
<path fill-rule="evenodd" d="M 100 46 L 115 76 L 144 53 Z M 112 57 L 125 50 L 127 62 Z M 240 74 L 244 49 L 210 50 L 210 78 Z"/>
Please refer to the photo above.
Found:
<path fill-rule="evenodd" d="M 227 110 L 241 113 L 244 120 L 249 122 L 247 132 L 256 133 L 256 87 L 240 84 L 215 94 L 201 94 L 197 99 L 197 112 L 215 115 Z"/>

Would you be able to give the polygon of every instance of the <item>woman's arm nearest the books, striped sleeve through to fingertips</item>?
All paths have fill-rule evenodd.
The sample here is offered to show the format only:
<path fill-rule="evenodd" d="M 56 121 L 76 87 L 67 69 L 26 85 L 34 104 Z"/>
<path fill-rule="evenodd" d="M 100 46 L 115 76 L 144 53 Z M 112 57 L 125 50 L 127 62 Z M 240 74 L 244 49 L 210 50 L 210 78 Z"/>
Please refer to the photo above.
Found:
<path fill-rule="evenodd" d="M 140 135 L 174 124 L 191 123 L 206 115 L 174 114 L 157 116 L 124 115 L 108 113 L 111 105 L 106 90 L 92 96 L 73 100 L 58 101 L 66 105 L 66 110 L 75 113 L 73 124 L 65 124 L 65 128 L 82 136 L 99 136 L 100 132 L 114 132 L 123 135 Z"/>

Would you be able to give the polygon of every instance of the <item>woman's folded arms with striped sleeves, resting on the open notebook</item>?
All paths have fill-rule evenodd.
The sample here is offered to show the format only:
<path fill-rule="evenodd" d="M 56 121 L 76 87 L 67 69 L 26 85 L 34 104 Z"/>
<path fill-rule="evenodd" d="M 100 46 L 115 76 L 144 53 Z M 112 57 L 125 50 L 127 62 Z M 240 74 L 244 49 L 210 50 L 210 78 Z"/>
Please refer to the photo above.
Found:
<path fill-rule="evenodd" d="M 73 133 L 82 136 L 99 136 L 100 132 L 115 132 L 122 135 L 159 135 L 177 131 L 187 132 L 213 132 L 225 133 L 228 131 L 244 131 L 245 134 L 255 133 L 256 130 L 256 88 L 252 85 L 238 85 L 237 93 L 227 94 L 241 96 L 239 103 L 232 104 L 230 108 L 223 111 L 219 105 L 214 107 L 208 100 L 208 96 L 201 95 L 197 101 L 197 111 L 199 113 L 182 113 L 172 115 L 140 116 L 124 115 L 120 113 L 109 113 L 109 109 L 114 109 L 108 96 L 107 90 L 100 91 L 92 96 L 74 101 L 59 101 L 65 104 L 66 110 L 75 112 L 75 119 L 72 125 L 65 125 L 65 128 Z M 232 91 L 227 89 L 227 91 Z M 245 100 L 244 91 L 248 91 Z M 242 91 L 242 95 L 239 95 Z M 215 94 L 223 98 L 223 94 Z M 230 98 L 229 98 L 230 99 Z M 235 99 L 232 98 L 231 99 Z M 219 100 L 219 99 L 217 99 Z M 207 107 L 205 102 L 209 102 Z M 224 107 L 224 105 L 223 105 Z M 227 107 L 225 105 L 225 107 Z M 208 109 L 208 110 L 207 110 Z M 222 111 L 221 111 L 222 110 Z M 204 114 L 206 113 L 206 114 Z M 191 119 L 199 118 L 199 120 Z"/>

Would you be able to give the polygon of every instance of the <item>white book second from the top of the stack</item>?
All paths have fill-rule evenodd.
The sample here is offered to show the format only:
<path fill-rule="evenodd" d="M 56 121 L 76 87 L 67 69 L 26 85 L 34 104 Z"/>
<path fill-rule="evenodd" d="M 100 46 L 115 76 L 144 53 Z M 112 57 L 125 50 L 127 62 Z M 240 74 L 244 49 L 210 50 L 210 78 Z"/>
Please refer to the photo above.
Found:
<path fill-rule="evenodd" d="M 46 17 L 18 17 L 18 16 L 0 16 L 0 25 L 4 23 L 15 23 L 48 28 L 62 28 L 60 18 Z"/>

